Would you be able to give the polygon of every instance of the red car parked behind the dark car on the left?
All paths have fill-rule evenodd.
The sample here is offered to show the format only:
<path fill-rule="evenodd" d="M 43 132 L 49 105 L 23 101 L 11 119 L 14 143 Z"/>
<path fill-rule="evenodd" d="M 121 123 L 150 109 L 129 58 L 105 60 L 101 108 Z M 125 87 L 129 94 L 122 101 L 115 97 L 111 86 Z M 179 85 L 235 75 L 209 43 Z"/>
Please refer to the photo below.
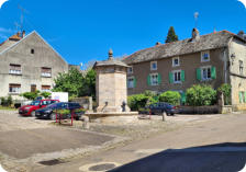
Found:
<path fill-rule="evenodd" d="M 33 101 L 29 105 L 21 106 L 19 108 L 19 114 L 23 116 L 35 116 L 35 111 L 46 107 L 49 104 L 57 103 L 58 100 L 38 100 Z"/>

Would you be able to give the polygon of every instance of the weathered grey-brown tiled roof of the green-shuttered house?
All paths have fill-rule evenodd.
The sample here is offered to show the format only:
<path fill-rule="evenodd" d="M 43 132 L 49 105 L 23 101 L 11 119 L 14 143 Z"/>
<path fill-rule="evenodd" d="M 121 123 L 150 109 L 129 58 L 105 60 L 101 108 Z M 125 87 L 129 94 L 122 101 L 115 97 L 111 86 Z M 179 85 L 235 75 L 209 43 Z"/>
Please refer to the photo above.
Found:
<path fill-rule="evenodd" d="M 233 33 L 221 31 L 208 35 L 202 35 L 199 39 L 195 41 L 192 41 L 192 38 L 187 38 L 183 41 L 157 45 L 155 47 L 136 51 L 124 58 L 123 61 L 130 65 L 192 54 L 202 50 L 227 47 L 230 39 L 234 36 L 236 35 Z M 236 37 L 239 38 L 238 36 Z"/>

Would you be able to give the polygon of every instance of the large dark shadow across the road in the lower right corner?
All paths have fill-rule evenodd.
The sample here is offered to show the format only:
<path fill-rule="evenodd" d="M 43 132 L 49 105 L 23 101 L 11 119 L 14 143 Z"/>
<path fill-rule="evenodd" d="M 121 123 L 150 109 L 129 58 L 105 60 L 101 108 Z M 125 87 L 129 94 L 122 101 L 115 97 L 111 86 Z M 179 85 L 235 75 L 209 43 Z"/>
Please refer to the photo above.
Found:
<path fill-rule="evenodd" d="M 238 172 L 245 163 L 246 142 L 224 142 L 168 149 L 110 172 Z"/>

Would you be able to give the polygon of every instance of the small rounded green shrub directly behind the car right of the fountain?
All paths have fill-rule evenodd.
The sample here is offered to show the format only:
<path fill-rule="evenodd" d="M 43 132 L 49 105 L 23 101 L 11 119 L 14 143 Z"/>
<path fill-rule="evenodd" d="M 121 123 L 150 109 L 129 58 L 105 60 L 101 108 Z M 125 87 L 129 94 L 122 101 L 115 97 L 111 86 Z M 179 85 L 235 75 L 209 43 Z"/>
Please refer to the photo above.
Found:
<path fill-rule="evenodd" d="M 181 99 L 181 95 L 177 91 L 166 91 L 159 95 L 160 102 L 167 102 L 172 105 L 179 105 L 180 99 Z"/>

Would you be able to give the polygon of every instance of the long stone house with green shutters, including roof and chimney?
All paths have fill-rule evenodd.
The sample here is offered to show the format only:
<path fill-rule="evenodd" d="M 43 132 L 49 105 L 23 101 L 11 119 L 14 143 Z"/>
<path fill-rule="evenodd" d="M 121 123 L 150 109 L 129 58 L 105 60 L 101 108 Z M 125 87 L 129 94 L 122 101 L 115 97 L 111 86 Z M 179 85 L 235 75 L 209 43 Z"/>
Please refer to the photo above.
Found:
<path fill-rule="evenodd" d="M 246 107 L 246 41 L 227 31 L 199 35 L 134 53 L 123 59 L 127 71 L 128 94 L 145 90 L 179 91 L 182 95 L 192 84 L 232 85 L 232 104 Z"/>

